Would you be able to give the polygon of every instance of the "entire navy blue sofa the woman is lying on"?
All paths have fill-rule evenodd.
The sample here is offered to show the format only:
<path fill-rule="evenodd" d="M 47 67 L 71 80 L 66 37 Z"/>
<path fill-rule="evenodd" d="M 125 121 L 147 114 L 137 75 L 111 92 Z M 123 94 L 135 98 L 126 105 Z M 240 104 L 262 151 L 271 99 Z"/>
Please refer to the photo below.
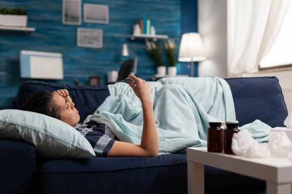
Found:
<path fill-rule="evenodd" d="M 226 79 L 240 125 L 259 119 L 282 127 L 287 109 L 275 77 Z M 24 82 L 18 109 L 39 91 L 69 90 L 81 121 L 110 95 L 108 86 Z M 265 182 L 205 167 L 206 193 L 264 193 Z M 90 158 L 44 161 L 34 146 L 0 140 L 0 194 L 186 194 L 185 154 L 152 158 Z"/>

